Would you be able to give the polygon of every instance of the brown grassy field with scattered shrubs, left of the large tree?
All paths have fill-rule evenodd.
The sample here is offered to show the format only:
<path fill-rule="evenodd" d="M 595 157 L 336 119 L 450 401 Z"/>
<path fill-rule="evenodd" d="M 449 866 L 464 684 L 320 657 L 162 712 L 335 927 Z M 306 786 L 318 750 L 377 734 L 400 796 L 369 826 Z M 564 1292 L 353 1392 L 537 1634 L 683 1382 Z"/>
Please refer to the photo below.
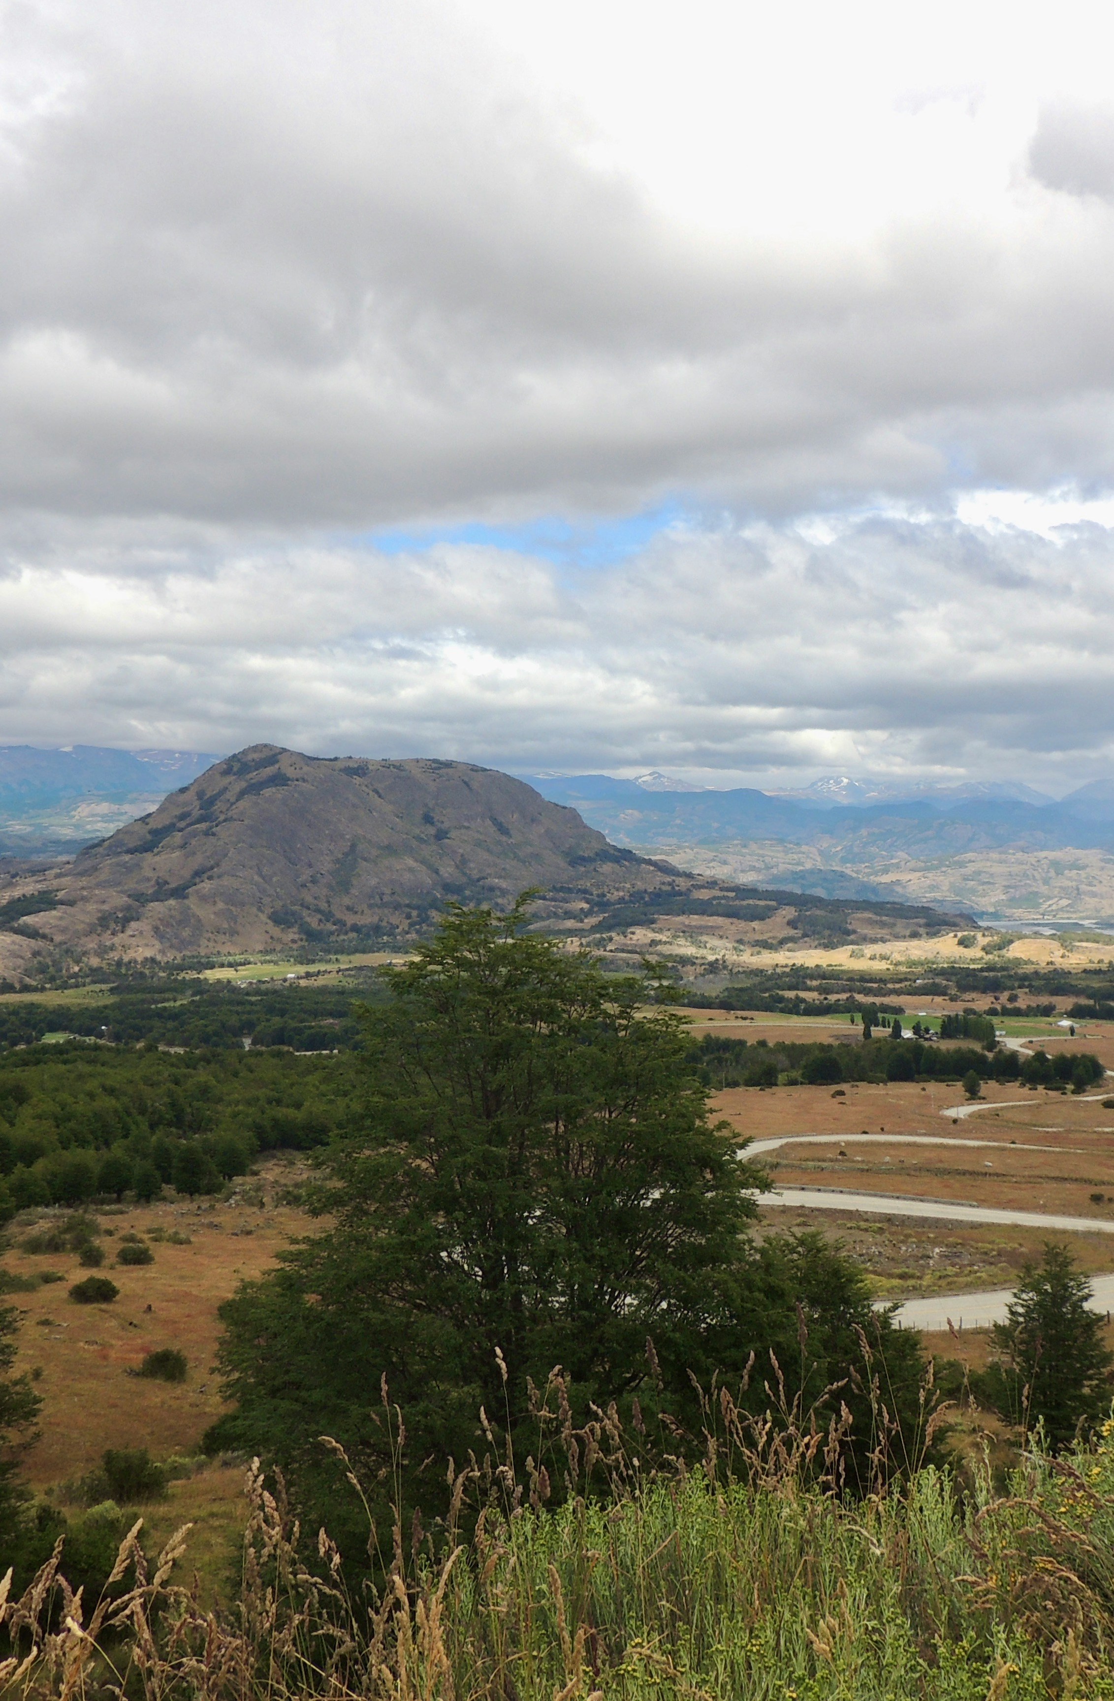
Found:
<path fill-rule="evenodd" d="M 105 1230 L 102 1271 L 82 1269 L 70 1254 L 32 1255 L 19 1245 L 5 1255 L 5 1267 L 19 1274 L 54 1269 L 65 1276 L 7 1301 L 22 1313 L 17 1369 L 41 1371 L 41 1436 L 26 1456 L 34 1487 L 80 1476 L 105 1448 L 148 1446 L 156 1458 L 197 1451 L 202 1432 L 225 1410 L 213 1376 L 216 1308 L 308 1226 L 303 1213 L 274 1199 L 291 1174 L 282 1163 L 267 1167 L 262 1209 L 247 1203 L 177 1203 L 134 1206 L 119 1216 L 97 1213 Z M 119 1235 L 153 1228 L 179 1230 L 192 1243 L 153 1243 L 155 1262 L 146 1266 L 121 1269 L 112 1262 Z M 68 1288 L 88 1274 L 111 1276 L 119 1298 L 112 1305 L 75 1305 Z M 185 1352 L 185 1383 L 128 1374 L 156 1347 Z M 179 1485 L 179 1492 L 184 1488 Z"/>

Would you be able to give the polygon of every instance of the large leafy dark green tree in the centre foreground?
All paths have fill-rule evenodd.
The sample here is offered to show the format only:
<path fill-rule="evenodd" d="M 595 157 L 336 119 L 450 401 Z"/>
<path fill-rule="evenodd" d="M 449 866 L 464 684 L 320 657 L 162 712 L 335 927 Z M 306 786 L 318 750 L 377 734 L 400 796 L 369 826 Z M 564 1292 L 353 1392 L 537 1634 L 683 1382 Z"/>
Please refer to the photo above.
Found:
<path fill-rule="evenodd" d="M 536 1451 L 529 1381 L 558 1364 L 580 1415 L 660 1395 L 694 1427 L 691 1373 L 738 1383 L 753 1349 L 769 1374 L 770 1345 L 793 1368 L 808 1259 L 750 1247 L 759 1177 L 645 978 L 527 932 L 517 905 L 451 910 L 386 980 L 364 1014 L 366 1112 L 323 1158 L 328 1226 L 223 1308 L 238 1412 L 213 1444 L 247 1442 L 303 1487 L 323 1432 L 386 1461 L 386 1376 L 406 1456 L 440 1476 L 483 1449 L 481 1407 Z M 816 1391 L 827 1371 L 808 1373 Z"/>

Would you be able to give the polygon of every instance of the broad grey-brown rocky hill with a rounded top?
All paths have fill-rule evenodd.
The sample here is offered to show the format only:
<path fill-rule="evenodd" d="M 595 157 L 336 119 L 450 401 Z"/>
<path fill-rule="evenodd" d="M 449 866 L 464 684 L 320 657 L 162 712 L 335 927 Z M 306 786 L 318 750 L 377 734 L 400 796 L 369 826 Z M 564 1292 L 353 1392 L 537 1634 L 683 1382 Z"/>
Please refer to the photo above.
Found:
<path fill-rule="evenodd" d="M 447 900 L 505 905 L 527 886 L 573 930 L 656 913 L 806 934 L 944 927 L 915 905 L 830 903 L 680 873 L 580 815 L 468 762 L 372 762 L 274 745 L 214 764 L 71 862 L 0 885 L 0 975 L 36 959 L 333 951 L 423 936 Z M 804 920 L 801 920 L 801 915 Z M 954 917 L 951 919 L 954 922 Z"/>

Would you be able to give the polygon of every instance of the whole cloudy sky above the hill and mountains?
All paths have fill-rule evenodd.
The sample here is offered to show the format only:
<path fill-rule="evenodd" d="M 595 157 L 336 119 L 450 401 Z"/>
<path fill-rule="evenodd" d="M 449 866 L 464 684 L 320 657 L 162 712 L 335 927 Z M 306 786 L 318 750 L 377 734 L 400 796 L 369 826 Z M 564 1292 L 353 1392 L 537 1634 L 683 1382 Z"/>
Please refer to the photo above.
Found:
<path fill-rule="evenodd" d="M 0 742 L 1114 774 L 1114 14 L 0 3 Z"/>

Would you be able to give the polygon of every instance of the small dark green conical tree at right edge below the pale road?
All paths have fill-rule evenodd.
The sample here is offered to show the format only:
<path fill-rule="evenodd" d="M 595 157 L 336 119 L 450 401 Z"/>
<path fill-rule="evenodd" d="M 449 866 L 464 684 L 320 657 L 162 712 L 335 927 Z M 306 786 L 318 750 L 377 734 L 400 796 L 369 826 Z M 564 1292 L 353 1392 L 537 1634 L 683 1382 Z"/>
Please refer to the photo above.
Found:
<path fill-rule="evenodd" d="M 993 1327 L 1007 1412 L 1026 1429 L 1043 1420 L 1053 1448 L 1068 1446 L 1077 1425 L 1111 1403 L 1114 1354 L 1090 1291 L 1068 1249 L 1046 1242 L 1041 1264 L 1026 1264 L 1005 1323 Z"/>

